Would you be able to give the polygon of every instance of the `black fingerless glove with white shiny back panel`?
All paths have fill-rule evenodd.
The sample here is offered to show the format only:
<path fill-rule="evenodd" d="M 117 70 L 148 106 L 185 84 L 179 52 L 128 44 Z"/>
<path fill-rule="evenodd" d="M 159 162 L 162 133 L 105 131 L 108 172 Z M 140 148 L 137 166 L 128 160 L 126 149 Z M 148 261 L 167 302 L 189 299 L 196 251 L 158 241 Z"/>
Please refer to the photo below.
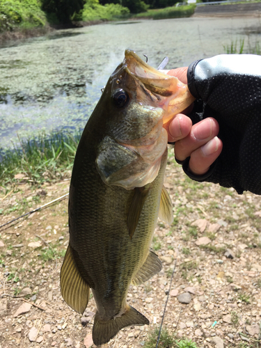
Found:
<path fill-rule="evenodd" d="M 219 122 L 223 150 L 208 176 L 189 175 L 186 165 L 185 173 L 193 180 L 234 187 L 238 193 L 261 194 L 261 56 L 203 59 L 189 66 L 187 77 L 202 117 Z"/>

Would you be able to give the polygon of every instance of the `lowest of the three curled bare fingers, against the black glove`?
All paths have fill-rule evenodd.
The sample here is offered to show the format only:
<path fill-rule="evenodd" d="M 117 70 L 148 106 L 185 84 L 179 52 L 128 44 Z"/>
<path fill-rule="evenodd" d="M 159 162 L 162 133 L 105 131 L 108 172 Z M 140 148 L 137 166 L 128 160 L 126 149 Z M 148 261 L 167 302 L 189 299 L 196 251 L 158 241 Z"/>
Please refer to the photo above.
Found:
<path fill-rule="evenodd" d="M 215 136 L 201 148 L 193 151 L 189 160 L 189 171 L 196 175 L 207 173 L 209 167 L 221 154 L 222 148 L 222 141 Z"/>

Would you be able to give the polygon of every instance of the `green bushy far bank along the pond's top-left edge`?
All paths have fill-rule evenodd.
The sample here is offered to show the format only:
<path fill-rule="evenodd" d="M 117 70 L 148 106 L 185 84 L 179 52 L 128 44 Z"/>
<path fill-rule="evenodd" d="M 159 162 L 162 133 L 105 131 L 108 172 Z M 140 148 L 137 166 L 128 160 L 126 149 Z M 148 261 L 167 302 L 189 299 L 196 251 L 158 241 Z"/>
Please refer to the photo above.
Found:
<path fill-rule="evenodd" d="M 193 15 L 195 5 L 167 7 L 159 10 L 148 10 L 145 13 L 131 15 L 129 9 L 118 3 L 89 2 L 84 4 L 83 10 L 71 17 L 74 25 L 97 24 L 103 21 L 113 21 L 132 18 L 164 19 L 189 17 Z M 45 13 L 41 9 L 40 0 L 2 0 L 0 1 L 0 42 L 5 40 L 28 38 L 30 36 L 45 35 L 54 29 L 63 29 L 55 13 Z"/>

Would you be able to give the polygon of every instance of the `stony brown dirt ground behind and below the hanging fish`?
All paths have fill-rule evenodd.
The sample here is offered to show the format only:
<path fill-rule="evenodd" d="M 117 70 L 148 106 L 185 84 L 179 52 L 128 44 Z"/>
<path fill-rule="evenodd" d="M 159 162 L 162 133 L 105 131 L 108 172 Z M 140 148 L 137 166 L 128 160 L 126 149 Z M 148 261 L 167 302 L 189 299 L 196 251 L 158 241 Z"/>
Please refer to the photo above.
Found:
<path fill-rule="evenodd" d="M 68 179 L 35 188 L 22 176 L 12 191 L 0 189 L 0 225 L 68 192 Z M 145 345 L 161 322 L 176 260 L 164 318 L 169 333 L 191 338 L 198 348 L 261 347 L 260 197 L 193 182 L 173 155 L 166 188 L 174 222 L 159 221 L 152 245 L 163 269 L 144 285 L 130 287 L 127 297 L 150 326 L 123 329 L 104 347 Z M 94 300 L 82 317 L 60 293 L 67 206 L 65 198 L 0 228 L 0 348 L 92 345 Z"/>

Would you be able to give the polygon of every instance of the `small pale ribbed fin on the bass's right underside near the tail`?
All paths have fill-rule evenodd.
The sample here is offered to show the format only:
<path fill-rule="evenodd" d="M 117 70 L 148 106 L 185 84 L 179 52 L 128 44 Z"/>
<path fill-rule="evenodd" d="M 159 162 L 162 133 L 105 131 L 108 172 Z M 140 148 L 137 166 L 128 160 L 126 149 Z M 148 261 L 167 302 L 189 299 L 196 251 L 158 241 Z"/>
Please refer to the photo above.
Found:
<path fill-rule="evenodd" d="M 159 271 L 161 271 L 161 268 L 161 260 L 159 260 L 158 256 L 150 250 L 148 258 L 139 269 L 138 273 L 132 280 L 132 283 L 134 285 L 140 285 L 144 283 L 145 281 L 152 278 L 152 276 L 155 276 L 155 274 L 159 273 Z"/>

